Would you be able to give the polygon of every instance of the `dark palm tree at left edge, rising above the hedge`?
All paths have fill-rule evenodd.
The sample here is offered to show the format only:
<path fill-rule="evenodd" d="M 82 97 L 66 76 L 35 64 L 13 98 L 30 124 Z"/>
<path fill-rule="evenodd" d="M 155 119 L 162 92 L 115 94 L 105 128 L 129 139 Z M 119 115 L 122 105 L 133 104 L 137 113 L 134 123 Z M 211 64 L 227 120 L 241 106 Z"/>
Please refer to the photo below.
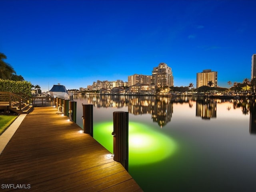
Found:
<path fill-rule="evenodd" d="M 0 52 L 0 78 L 11 79 L 13 74 L 16 74 L 14 68 L 3 59 L 7 59 L 6 55 Z"/>

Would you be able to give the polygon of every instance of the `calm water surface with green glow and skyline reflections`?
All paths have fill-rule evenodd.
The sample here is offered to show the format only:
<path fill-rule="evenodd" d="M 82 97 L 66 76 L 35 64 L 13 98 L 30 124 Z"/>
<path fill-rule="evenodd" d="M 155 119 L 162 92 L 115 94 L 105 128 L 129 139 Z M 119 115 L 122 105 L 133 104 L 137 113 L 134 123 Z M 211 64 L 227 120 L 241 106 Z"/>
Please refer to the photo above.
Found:
<path fill-rule="evenodd" d="M 113 112 L 129 112 L 129 173 L 145 191 L 256 191 L 256 104 L 251 100 L 99 96 L 94 138 L 113 152 Z"/>

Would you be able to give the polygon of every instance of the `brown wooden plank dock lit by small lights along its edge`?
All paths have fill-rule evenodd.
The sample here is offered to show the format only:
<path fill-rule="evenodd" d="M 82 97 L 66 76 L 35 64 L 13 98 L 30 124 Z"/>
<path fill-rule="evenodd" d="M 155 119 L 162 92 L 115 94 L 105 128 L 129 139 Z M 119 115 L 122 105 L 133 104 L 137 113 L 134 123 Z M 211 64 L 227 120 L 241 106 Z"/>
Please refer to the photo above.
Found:
<path fill-rule="evenodd" d="M 142 191 L 108 150 L 80 130 L 56 108 L 34 108 L 0 154 L 1 191 Z"/>

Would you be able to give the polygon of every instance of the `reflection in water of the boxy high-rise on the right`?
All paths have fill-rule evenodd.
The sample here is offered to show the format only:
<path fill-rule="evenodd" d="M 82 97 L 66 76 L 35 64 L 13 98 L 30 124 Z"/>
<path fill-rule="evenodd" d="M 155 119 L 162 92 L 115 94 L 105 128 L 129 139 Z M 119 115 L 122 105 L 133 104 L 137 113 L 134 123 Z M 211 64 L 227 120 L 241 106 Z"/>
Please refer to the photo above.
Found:
<path fill-rule="evenodd" d="M 196 101 L 196 116 L 202 119 L 217 117 L 217 102 L 210 98 L 201 98 Z"/>

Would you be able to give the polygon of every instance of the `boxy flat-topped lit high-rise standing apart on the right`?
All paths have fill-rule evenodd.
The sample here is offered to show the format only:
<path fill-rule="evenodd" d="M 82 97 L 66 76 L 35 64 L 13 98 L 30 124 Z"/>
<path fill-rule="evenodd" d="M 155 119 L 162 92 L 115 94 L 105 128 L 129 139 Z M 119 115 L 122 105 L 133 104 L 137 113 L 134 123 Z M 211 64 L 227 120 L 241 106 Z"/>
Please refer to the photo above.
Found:
<path fill-rule="evenodd" d="M 196 74 L 196 88 L 208 86 L 208 82 L 212 81 L 212 87 L 217 87 L 217 72 L 210 69 Z"/>

